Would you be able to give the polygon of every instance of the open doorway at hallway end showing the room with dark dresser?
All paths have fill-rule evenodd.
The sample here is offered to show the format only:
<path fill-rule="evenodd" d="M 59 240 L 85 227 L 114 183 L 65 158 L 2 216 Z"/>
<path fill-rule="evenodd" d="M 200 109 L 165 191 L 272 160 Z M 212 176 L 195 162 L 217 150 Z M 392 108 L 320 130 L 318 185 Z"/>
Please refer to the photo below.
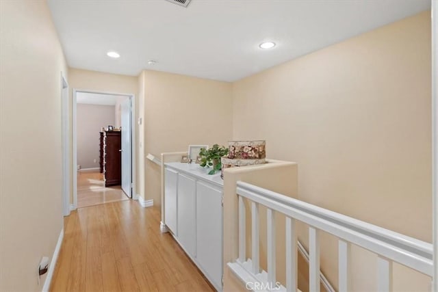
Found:
<path fill-rule="evenodd" d="M 73 209 L 132 198 L 134 96 L 73 90 Z"/>

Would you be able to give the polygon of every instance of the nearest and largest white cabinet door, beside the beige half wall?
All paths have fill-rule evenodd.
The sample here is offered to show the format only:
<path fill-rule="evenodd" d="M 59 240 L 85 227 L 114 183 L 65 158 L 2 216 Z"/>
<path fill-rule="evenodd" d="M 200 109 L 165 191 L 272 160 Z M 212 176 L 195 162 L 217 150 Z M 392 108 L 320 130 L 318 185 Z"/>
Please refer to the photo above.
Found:
<path fill-rule="evenodd" d="M 221 287 L 222 191 L 201 182 L 196 183 L 196 259 Z"/>

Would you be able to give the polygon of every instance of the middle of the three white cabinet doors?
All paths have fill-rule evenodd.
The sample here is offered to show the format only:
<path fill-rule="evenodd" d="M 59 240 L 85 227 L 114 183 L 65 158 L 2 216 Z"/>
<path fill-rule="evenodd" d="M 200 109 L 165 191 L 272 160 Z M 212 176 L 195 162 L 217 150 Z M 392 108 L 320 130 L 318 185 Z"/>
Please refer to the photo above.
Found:
<path fill-rule="evenodd" d="M 193 178 L 178 174 L 178 240 L 185 252 L 195 254 L 195 181 Z"/>

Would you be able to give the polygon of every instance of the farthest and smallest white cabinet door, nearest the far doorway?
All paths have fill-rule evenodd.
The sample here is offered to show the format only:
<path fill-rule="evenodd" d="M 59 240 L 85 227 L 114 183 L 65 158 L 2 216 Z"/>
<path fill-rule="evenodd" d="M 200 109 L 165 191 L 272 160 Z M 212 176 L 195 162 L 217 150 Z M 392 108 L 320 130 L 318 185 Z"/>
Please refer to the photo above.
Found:
<path fill-rule="evenodd" d="M 164 170 L 164 220 L 166 221 L 166 226 L 175 235 L 178 233 L 177 183 L 178 172 L 166 168 Z"/>

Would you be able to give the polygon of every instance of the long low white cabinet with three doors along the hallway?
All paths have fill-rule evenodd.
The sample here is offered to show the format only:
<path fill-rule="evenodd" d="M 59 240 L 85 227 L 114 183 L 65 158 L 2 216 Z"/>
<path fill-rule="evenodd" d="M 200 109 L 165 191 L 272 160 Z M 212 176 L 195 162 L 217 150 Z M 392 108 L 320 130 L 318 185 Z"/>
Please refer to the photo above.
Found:
<path fill-rule="evenodd" d="M 196 163 L 164 163 L 164 219 L 181 248 L 222 291 L 222 200 L 220 174 Z"/>

